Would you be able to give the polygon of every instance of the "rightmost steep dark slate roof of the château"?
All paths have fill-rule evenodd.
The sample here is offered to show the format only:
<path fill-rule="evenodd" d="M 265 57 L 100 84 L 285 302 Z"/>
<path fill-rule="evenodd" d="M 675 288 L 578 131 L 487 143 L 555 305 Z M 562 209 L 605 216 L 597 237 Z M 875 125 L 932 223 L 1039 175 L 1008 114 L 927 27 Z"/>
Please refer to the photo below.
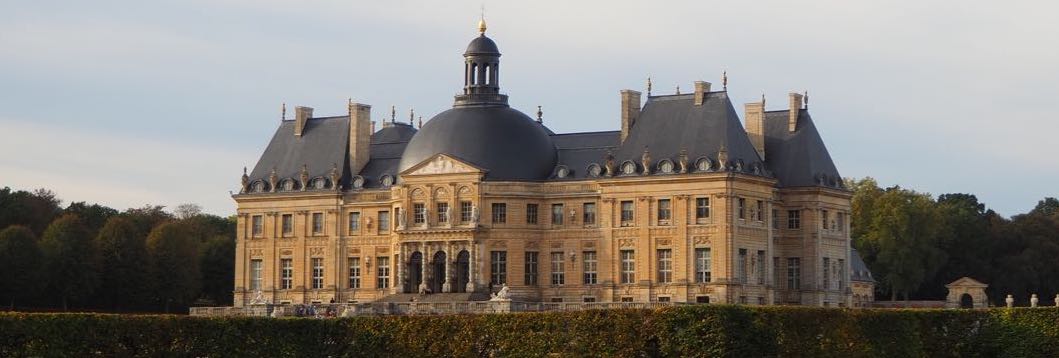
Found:
<path fill-rule="evenodd" d="M 841 187 L 842 176 L 809 111 L 798 111 L 794 131 L 788 130 L 788 110 L 765 113 L 765 161 L 779 179 L 779 186 Z"/>

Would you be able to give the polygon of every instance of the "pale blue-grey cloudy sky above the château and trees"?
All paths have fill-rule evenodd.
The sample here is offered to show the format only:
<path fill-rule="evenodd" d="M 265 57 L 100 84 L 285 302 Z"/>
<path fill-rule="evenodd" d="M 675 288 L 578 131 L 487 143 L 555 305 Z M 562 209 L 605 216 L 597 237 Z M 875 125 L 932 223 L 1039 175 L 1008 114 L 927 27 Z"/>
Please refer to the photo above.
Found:
<path fill-rule="evenodd" d="M 502 91 L 556 132 L 614 130 L 622 89 L 808 91 L 844 177 L 971 193 L 1009 216 L 1059 196 L 1059 2 L 0 2 L 0 187 L 230 215 L 281 104 L 427 121 L 463 85 L 485 6 Z"/>

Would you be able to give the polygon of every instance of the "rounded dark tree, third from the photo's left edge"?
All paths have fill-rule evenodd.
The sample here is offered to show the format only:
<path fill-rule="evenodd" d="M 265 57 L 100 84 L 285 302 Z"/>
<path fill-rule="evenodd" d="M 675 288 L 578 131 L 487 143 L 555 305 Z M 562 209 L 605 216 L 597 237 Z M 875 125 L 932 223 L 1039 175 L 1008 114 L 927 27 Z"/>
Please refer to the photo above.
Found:
<path fill-rule="evenodd" d="M 100 253 L 102 305 L 111 308 L 139 307 L 151 290 L 145 237 L 132 220 L 114 216 L 95 236 Z"/>

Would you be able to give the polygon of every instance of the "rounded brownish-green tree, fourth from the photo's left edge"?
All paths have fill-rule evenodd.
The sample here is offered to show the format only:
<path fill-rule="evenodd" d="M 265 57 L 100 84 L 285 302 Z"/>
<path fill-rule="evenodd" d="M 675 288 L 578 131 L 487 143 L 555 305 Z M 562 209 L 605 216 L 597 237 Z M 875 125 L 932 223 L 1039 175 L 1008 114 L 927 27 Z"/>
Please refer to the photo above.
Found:
<path fill-rule="evenodd" d="M 166 312 L 170 304 L 186 305 L 198 294 L 201 287 L 198 248 L 199 241 L 181 221 L 162 223 L 147 236 L 155 293 Z"/>

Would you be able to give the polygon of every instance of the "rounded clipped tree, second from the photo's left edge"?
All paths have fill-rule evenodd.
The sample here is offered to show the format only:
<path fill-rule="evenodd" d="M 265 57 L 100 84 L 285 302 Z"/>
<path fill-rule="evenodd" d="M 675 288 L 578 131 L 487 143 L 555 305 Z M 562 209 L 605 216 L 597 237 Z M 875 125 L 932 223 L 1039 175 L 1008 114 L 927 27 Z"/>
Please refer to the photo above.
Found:
<path fill-rule="evenodd" d="M 70 301 L 88 298 L 98 285 L 97 259 L 85 225 L 76 215 L 62 215 L 48 226 L 40 240 L 48 292 L 57 294 L 62 309 Z"/>

